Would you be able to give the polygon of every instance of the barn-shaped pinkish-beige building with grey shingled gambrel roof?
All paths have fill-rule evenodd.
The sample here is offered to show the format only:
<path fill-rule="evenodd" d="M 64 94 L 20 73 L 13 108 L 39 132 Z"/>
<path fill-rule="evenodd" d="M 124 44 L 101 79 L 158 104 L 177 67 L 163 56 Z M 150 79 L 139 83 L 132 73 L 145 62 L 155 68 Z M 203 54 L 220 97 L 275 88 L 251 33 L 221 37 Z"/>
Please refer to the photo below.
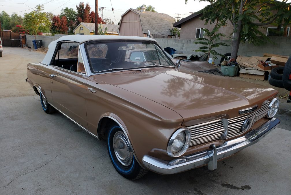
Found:
<path fill-rule="evenodd" d="M 119 33 L 123 36 L 146 37 L 148 30 L 154 38 L 170 38 L 175 18 L 164 13 L 129 9 L 120 19 Z"/>

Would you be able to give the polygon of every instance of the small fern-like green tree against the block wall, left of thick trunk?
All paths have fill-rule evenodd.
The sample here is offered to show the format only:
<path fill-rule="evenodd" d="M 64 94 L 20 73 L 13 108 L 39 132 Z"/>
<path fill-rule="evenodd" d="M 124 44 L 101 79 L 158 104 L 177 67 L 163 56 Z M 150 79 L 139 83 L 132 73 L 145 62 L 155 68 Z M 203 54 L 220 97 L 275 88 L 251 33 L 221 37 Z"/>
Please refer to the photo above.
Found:
<path fill-rule="evenodd" d="M 223 33 L 217 33 L 219 28 L 222 26 L 223 24 L 219 23 L 219 21 L 217 20 L 212 31 L 209 31 L 208 29 L 203 29 L 204 37 L 197 38 L 196 39 L 197 41 L 194 41 L 194 44 L 204 45 L 196 49 L 195 52 L 207 53 L 208 54 L 207 61 L 209 60 L 210 54 L 212 54 L 213 56 L 212 58 L 214 60 L 217 59 L 216 56 L 223 56 L 223 54 L 216 52 L 215 50 L 213 50 L 213 48 L 220 47 L 220 46 L 229 47 L 229 45 L 227 45 L 224 42 L 217 42 L 220 40 L 220 37 L 226 37 L 226 35 Z"/>

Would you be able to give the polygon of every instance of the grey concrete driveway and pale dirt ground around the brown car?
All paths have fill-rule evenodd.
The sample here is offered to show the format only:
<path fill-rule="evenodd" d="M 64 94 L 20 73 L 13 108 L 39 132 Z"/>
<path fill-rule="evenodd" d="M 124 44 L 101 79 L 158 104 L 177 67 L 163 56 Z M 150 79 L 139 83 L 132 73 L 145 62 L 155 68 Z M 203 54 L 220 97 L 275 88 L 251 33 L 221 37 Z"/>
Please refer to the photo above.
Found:
<path fill-rule="evenodd" d="M 280 128 L 218 162 L 215 171 L 202 167 L 175 175 L 149 172 L 134 181 L 123 178 L 105 142 L 62 114 L 42 110 L 25 79 L 26 64 L 41 61 L 44 54 L 4 49 L 0 194 L 291 194 L 291 132 Z"/>

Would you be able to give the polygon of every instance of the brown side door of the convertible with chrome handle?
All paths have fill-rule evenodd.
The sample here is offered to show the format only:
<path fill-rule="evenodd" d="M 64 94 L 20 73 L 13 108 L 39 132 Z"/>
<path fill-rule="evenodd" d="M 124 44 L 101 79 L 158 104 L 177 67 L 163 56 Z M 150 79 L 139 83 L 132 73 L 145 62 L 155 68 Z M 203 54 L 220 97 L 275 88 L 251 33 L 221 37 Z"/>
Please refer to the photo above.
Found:
<path fill-rule="evenodd" d="M 52 70 L 54 74 L 51 84 L 53 105 L 79 125 L 87 128 L 86 83 L 89 79 L 80 52 L 77 59 L 77 64 L 71 65 L 71 67 L 76 66 L 76 68 L 68 70 L 59 64 Z M 64 59 L 61 63 L 68 65 Z"/>

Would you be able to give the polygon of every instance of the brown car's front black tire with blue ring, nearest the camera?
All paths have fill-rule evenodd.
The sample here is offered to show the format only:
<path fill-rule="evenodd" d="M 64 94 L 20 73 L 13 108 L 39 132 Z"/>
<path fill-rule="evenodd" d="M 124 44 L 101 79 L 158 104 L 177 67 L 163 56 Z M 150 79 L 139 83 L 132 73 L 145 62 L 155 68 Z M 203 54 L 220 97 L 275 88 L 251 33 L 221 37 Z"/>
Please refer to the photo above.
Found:
<path fill-rule="evenodd" d="M 125 154 L 126 159 L 124 160 L 124 162 L 127 163 L 126 165 L 123 165 L 120 163 L 120 158 L 118 157 L 118 155 L 116 155 L 116 152 L 114 150 L 113 141 L 118 140 L 118 139 L 122 140 L 120 143 L 123 144 L 122 147 L 124 148 L 121 148 L 121 149 L 125 149 L 124 151 L 126 151 L 126 154 Z M 119 149 L 120 149 L 120 143 L 119 143 Z M 143 169 L 139 165 L 139 163 L 136 161 L 132 153 L 130 144 L 128 142 L 127 136 L 124 134 L 120 126 L 116 124 L 111 125 L 109 127 L 109 132 L 107 134 L 107 150 L 108 150 L 111 163 L 113 164 L 116 171 L 123 177 L 129 180 L 135 180 L 135 179 L 143 177 L 148 172 L 148 170 Z"/>

